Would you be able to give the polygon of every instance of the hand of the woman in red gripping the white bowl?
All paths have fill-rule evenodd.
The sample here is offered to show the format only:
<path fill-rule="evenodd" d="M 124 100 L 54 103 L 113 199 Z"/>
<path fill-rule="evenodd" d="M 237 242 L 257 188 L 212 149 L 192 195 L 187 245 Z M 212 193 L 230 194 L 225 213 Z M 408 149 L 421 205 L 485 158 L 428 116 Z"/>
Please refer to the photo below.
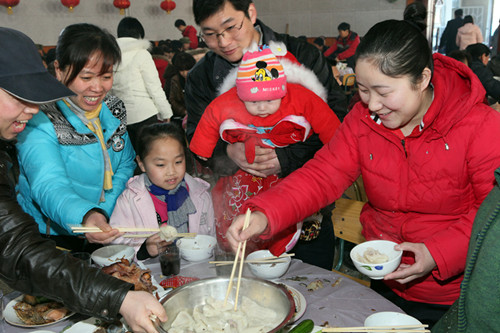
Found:
<path fill-rule="evenodd" d="M 436 262 L 424 243 L 401 243 L 394 247 L 396 250 L 413 252 L 415 263 L 413 265 L 401 264 L 394 272 L 387 274 L 384 280 L 396 280 L 401 284 L 408 283 L 419 277 L 429 274 Z"/>

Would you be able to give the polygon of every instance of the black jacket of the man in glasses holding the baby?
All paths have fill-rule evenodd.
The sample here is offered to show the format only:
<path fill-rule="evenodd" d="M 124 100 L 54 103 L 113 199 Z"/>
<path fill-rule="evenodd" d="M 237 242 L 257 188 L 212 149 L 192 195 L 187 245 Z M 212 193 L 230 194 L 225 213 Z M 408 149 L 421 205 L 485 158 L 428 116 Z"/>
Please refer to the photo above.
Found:
<path fill-rule="evenodd" d="M 340 121 L 347 114 L 347 101 L 344 93 L 340 90 L 333 78 L 332 69 L 326 62 L 322 53 L 312 44 L 303 42 L 298 38 L 286 34 L 278 34 L 257 20 L 256 25 L 262 31 L 264 44 L 269 41 L 280 41 L 284 43 L 287 50 L 297 60 L 310 68 L 318 77 L 319 81 L 328 91 L 328 105 L 335 112 Z M 208 52 L 189 71 L 186 88 L 186 109 L 188 114 L 186 134 L 191 141 L 196 126 L 205 112 L 205 108 L 217 97 L 217 88 L 222 84 L 228 72 L 235 64 L 226 61 L 214 52 Z M 300 168 L 305 162 L 314 156 L 314 153 L 323 144 L 317 135 L 311 136 L 306 142 L 296 143 L 285 148 L 276 149 L 276 154 L 281 165 L 281 177 L 285 177 L 292 171 Z M 219 140 L 211 159 L 210 168 L 220 175 L 230 175 L 236 172 L 237 166 L 225 153 L 226 144 Z"/>

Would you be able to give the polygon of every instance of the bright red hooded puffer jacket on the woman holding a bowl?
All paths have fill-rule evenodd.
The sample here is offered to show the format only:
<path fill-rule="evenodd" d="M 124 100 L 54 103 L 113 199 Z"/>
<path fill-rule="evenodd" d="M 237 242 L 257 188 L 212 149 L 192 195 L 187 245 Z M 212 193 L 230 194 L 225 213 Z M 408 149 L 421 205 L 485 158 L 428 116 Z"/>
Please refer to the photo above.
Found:
<path fill-rule="evenodd" d="M 500 166 L 500 113 L 482 103 L 484 89 L 467 66 L 439 54 L 434 65 L 434 100 L 421 131 L 402 142 L 358 103 L 314 159 L 247 201 L 269 218 L 261 237 L 333 202 L 361 174 L 366 239 L 423 242 L 437 264 L 417 281 L 391 284 L 393 290 L 407 300 L 452 304 L 474 216 Z M 405 255 L 403 262 L 413 259 Z"/>

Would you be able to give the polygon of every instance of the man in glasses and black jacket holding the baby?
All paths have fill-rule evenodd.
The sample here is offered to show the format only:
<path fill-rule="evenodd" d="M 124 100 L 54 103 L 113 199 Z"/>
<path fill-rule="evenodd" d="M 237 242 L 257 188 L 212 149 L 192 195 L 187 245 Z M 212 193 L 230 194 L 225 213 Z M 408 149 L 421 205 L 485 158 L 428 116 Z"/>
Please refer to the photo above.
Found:
<path fill-rule="evenodd" d="M 346 97 L 334 80 L 332 70 L 321 52 L 305 41 L 272 31 L 257 19 L 257 9 L 251 0 L 193 0 L 193 13 L 211 52 L 193 67 L 186 81 L 186 134 L 189 141 L 205 108 L 217 97 L 217 90 L 224 78 L 238 65 L 244 50 L 250 47 L 252 42 L 263 45 L 269 44 L 269 41 L 280 41 L 285 44 L 287 51 L 294 55 L 299 63 L 316 74 L 328 92 L 328 105 L 341 121 L 344 119 L 347 113 Z M 279 149 L 256 147 L 254 163 L 249 164 L 245 158 L 243 143 L 224 144 L 219 140 L 213 158 L 209 160 L 209 167 L 223 176 L 232 175 L 240 168 L 257 177 L 272 174 L 286 177 L 304 165 L 321 147 L 322 143 L 317 135 L 311 136 L 305 142 Z M 327 217 L 323 220 L 319 237 L 324 235 L 327 237 L 325 241 L 333 243 L 331 221 L 328 221 Z M 329 232 L 331 235 L 327 236 Z M 323 248 L 317 255 L 314 255 L 309 247 L 309 256 L 323 263 L 309 262 L 331 268 L 333 249 L 330 243 L 328 250 Z M 297 255 L 297 249 L 293 251 Z M 328 256 L 325 256 L 325 253 L 328 253 Z"/>

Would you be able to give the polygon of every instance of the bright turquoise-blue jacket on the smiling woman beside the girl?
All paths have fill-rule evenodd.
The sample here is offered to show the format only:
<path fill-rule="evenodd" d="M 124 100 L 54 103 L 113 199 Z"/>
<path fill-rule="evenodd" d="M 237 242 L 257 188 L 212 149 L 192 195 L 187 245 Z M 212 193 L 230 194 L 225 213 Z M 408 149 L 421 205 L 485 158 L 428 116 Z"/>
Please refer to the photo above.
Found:
<path fill-rule="evenodd" d="M 133 175 L 135 152 L 126 132 L 125 107 L 116 97 L 107 98 L 99 115 L 114 173 L 104 202 L 104 157 L 97 137 L 63 101 L 42 110 L 18 137 L 18 201 L 40 233 L 49 229 L 51 235 L 72 235 L 71 225 L 81 224 L 91 209 L 111 216 Z"/>

